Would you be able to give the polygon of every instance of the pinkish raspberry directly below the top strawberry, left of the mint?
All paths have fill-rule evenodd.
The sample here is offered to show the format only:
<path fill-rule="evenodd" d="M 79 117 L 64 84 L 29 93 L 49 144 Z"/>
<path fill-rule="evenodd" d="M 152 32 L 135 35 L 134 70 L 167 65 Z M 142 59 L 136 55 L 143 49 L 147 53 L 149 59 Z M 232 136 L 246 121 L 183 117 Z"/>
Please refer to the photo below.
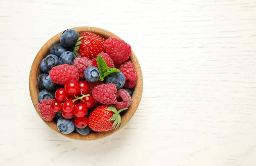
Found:
<path fill-rule="evenodd" d="M 76 57 L 74 66 L 78 69 L 79 79 L 81 80 L 84 79 L 84 70 L 89 66 L 93 66 L 93 63 L 87 57 Z"/>

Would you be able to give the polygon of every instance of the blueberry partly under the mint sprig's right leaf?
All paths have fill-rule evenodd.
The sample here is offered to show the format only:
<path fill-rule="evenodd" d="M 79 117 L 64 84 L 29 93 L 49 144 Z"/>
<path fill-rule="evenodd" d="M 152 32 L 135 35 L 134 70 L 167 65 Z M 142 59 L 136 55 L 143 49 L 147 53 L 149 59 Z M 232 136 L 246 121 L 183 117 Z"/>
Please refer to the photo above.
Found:
<path fill-rule="evenodd" d="M 125 75 L 121 72 L 111 73 L 106 77 L 106 83 L 113 83 L 116 89 L 121 89 L 125 86 Z"/>

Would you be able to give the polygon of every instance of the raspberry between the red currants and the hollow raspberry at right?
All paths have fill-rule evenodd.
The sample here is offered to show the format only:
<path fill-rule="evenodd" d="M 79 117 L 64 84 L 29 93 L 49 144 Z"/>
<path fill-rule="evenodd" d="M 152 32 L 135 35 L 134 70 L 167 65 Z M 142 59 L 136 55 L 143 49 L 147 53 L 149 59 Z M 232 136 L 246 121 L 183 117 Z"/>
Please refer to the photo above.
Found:
<path fill-rule="evenodd" d="M 102 104 L 116 104 L 116 86 L 113 83 L 106 83 L 96 86 L 93 91 L 93 98 Z"/>

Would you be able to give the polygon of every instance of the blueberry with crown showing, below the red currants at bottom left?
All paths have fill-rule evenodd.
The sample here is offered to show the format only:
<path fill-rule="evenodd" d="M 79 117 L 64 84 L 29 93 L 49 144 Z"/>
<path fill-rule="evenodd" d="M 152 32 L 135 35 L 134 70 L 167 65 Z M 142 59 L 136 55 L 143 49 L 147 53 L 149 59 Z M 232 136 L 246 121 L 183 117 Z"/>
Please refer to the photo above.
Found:
<path fill-rule="evenodd" d="M 57 120 L 57 127 L 58 127 L 58 130 L 63 134 L 70 134 L 76 128 L 73 120 L 65 119 L 64 117 L 60 117 Z"/>

